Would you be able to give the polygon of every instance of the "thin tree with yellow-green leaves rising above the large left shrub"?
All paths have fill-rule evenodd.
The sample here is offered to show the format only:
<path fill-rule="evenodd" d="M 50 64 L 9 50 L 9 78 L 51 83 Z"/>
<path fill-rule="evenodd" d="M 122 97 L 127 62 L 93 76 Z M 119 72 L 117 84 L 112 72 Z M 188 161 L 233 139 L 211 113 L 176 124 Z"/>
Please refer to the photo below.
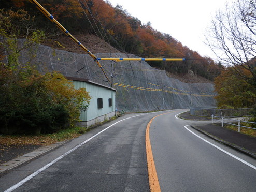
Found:
<path fill-rule="evenodd" d="M 7 56 L 7 63 L 3 63 L 3 65 L 12 70 L 24 67 L 18 61 L 22 50 L 32 48 L 45 40 L 45 33 L 33 28 L 33 20 L 23 9 L 16 12 L 0 9 L 0 36 L 2 37 L 0 46 L 5 50 Z M 21 43 L 19 38 L 25 38 L 24 43 Z M 30 51 L 33 52 L 33 50 Z M 32 53 L 31 57 L 34 56 Z"/>

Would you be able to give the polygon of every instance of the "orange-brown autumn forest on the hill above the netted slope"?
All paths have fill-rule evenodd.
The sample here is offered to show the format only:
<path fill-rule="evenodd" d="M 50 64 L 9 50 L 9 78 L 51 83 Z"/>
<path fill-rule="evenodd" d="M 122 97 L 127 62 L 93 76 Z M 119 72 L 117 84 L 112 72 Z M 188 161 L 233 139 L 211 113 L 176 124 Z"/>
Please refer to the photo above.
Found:
<path fill-rule="evenodd" d="M 141 57 L 186 58 L 185 62 L 149 62 L 153 67 L 171 73 L 190 73 L 213 80 L 220 73 L 218 64 L 211 58 L 202 57 L 197 52 L 183 46 L 169 34 L 161 33 L 131 16 L 122 6 L 113 7 L 103 0 L 38 0 L 55 19 L 69 32 L 93 33 L 109 42 L 120 51 Z M 35 6 L 25 0 L 11 0 L 2 4 L 3 8 L 23 8 L 36 16 L 37 27 L 51 33 L 56 27 Z"/>

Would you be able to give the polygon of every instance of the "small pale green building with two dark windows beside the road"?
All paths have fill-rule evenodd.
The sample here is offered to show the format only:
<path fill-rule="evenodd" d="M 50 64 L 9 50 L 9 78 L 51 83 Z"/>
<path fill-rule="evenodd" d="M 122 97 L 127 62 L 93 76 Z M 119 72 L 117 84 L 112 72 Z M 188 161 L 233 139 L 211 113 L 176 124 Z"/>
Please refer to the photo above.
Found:
<path fill-rule="evenodd" d="M 101 85 L 88 79 L 66 77 L 72 80 L 75 88 L 86 88 L 91 96 L 87 111 L 81 111 L 79 126 L 88 127 L 115 116 L 116 91 L 114 88 Z"/>

